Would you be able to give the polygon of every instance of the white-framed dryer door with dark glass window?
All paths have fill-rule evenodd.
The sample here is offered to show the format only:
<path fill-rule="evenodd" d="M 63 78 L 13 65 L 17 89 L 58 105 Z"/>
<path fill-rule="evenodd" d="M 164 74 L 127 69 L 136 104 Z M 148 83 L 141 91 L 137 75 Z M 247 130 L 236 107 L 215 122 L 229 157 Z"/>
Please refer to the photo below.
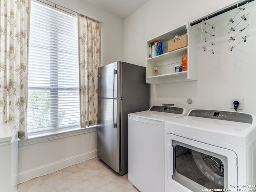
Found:
<path fill-rule="evenodd" d="M 166 152 L 166 183 L 178 191 L 224 191 L 237 185 L 237 155 L 232 150 L 169 133 Z"/>

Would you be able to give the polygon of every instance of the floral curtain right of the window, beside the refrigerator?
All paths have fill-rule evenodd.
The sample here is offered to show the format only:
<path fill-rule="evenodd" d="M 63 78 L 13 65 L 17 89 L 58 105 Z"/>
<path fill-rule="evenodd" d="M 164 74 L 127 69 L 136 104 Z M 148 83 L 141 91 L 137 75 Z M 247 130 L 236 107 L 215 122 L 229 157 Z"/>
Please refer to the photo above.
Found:
<path fill-rule="evenodd" d="M 81 128 L 98 124 L 98 67 L 100 22 L 78 14 L 80 122 Z"/>

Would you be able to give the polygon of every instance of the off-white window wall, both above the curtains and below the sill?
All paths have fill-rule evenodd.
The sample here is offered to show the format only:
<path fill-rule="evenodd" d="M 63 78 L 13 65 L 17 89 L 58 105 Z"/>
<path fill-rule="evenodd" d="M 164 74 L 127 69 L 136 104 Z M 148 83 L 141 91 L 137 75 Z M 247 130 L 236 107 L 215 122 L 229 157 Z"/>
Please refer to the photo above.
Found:
<path fill-rule="evenodd" d="M 123 60 L 123 20 L 84 0 L 50 0 L 102 22 L 101 65 Z M 97 132 L 78 130 L 19 142 L 18 182 L 97 156 Z"/>

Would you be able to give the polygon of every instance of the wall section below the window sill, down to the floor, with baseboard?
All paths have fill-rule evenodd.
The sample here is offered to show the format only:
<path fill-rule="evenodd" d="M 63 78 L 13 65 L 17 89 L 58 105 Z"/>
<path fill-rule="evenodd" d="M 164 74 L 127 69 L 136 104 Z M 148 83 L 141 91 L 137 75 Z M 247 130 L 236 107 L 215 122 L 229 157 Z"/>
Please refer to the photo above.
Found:
<path fill-rule="evenodd" d="M 97 156 L 97 128 L 19 141 L 18 183 Z"/>

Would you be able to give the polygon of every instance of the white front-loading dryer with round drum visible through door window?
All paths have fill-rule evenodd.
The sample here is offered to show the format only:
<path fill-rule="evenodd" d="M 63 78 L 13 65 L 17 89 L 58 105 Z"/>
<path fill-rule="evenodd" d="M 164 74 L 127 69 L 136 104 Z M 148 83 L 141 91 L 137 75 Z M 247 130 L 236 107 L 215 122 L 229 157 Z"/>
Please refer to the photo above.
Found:
<path fill-rule="evenodd" d="M 165 192 L 255 191 L 256 118 L 191 110 L 165 123 Z"/>

